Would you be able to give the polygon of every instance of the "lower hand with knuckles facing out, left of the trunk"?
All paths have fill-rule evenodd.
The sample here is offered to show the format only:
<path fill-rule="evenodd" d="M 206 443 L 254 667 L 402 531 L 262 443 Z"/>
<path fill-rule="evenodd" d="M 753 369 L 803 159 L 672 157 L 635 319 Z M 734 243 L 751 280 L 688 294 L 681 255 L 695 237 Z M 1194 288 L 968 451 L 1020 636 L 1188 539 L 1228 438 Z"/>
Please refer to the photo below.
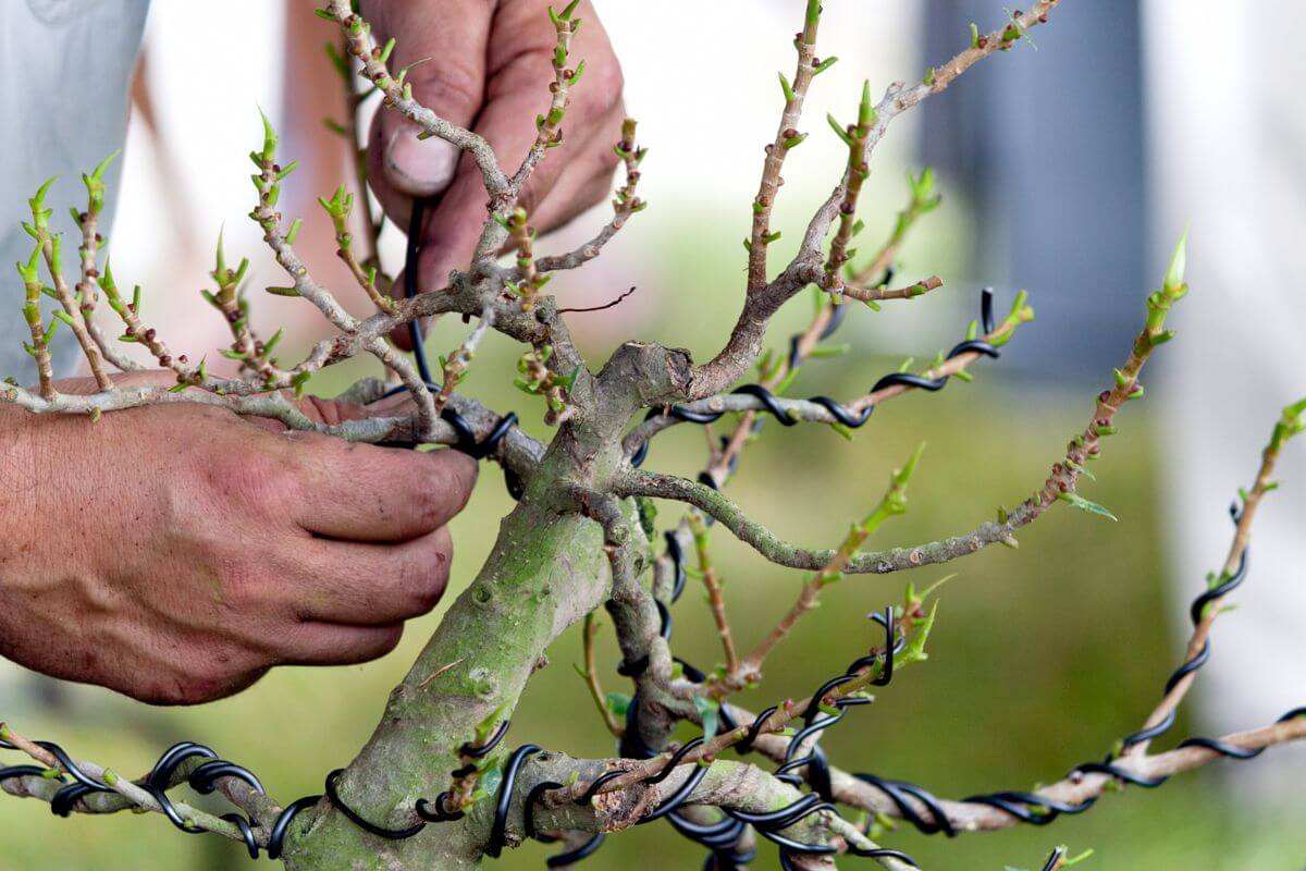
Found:
<path fill-rule="evenodd" d="M 218 699 L 274 665 L 374 659 L 444 592 L 445 524 L 475 477 L 452 451 L 200 405 L 95 423 L 3 407 L 0 654 L 155 704 Z"/>

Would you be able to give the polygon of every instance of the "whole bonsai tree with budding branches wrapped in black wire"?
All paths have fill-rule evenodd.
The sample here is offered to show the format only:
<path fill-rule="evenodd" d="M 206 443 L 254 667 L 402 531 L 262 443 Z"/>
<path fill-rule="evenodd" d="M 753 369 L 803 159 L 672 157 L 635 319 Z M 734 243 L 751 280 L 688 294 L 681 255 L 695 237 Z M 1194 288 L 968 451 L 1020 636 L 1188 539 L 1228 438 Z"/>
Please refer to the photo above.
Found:
<path fill-rule="evenodd" d="M 1143 396 L 1139 379 L 1144 366 L 1173 338 L 1166 316 L 1188 290 L 1185 243 L 1178 244 L 1160 287 L 1145 298 L 1143 328 L 1132 343 L 1122 342 L 1123 362 L 1096 397 L 1084 430 L 1058 453 L 1046 479 L 1015 508 L 951 538 L 868 550 L 871 535 L 906 509 L 910 482 L 921 474 L 922 452 L 917 449 L 902 458 L 883 496 L 868 511 L 863 507 L 865 513 L 841 541 L 816 550 L 790 543 L 725 495 L 741 453 L 764 419 L 774 418 L 786 427 L 833 427 L 852 435 L 875 409 L 897 396 L 939 390 L 952 377 L 969 377 L 973 364 L 996 358 L 1033 319 L 1024 294 L 996 319 L 993 295 L 986 291 L 981 317 L 970 323 L 964 340 L 929 366 L 888 373 L 858 397 L 788 396 L 799 367 L 823 354 L 823 341 L 845 317 L 858 316 L 850 309 L 897 304 L 942 285 L 932 276 L 897 285 L 892 281 L 899 245 L 916 219 L 938 204 L 927 171 L 912 178 L 910 201 L 891 238 L 870 256 L 855 249 L 863 182 L 889 124 L 946 90 L 974 64 L 1019 44 L 1030 29 L 1049 20 L 1058 0 L 1038 0 L 1029 10 L 1016 10 L 987 34 L 972 26 L 969 44 L 929 68 L 922 78 L 889 85 L 879 101 L 867 84 L 861 99 L 850 104 L 846 124 L 831 118 L 833 135 L 846 145 L 846 163 L 807 223 L 797 253 L 777 264 L 768 252 L 780 236 L 771 219 L 781 200 L 781 174 L 808 135 L 802 118 L 808 90 L 835 63 L 818 56 L 821 9 L 818 0 L 807 0 L 793 40 L 795 69 L 780 76 L 784 107 L 751 202 L 746 281 L 729 337 L 703 362 L 684 350 L 632 340 L 601 364 L 582 359 L 568 334 L 567 309 L 546 289 L 554 276 L 598 257 L 645 206 L 639 195 L 645 149 L 637 141 L 635 121 L 613 131 L 624 178 L 613 200 L 613 218 L 590 242 L 564 253 L 537 251 L 530 214 L 521 200 L 524 185 L 550 150 L 565 148 L 568 95 L 584 87 L 584 60 L 573 57 L 571 50 L 582 25 L 577 4 L 573 0 L 562 10 L 551 9 L 550 21 L 539 22 L 556 31 L 554 78 L 539 82 L 542 103 L 547 89 L 547 108 L 537 118 L 533 148 L 516 167 L 503 166 L 475 133 L 414 101 L 405 82 L 407 69 L 388 65 L 394 40 L 376 44 L 367 21 L 347 0 L 328 0 L 319 9 L 319 16 L 338 29 L 342 50 L 336 59 L 345 80 L 360 77 L 367 90 L 380 93 L 381 111 L 401 112 L 422 128 L 423 138 L 441 138 L 465 151 L 483 176 L 487 212 L 468 269 L 452 273 L 447 287 L 421 294 L 410 287 L 405 298 L 392 298 L 388 290 L 393 282 L 376 259 L 376 221 L 364 189 L 355 192 L 358 200 L 343 187 L 323 198 L 336 226 L 340 257 L 375 304 L 374 313 L 355 317 L 313 279 L 295 253 L 300 221 L 287 221 L 277 209 L 295 163 L 278 154 L 277 136 L 265 120 L 263 145 L 251 154 L 256 202 L 249 217 L 263 229 L 287 276 L 285 286 L 268 291 L 303 298 L 333 329 L 293 364 L 277 355 L 279 332 L 264 338 L 251 326 L 243 287 L 248 261 L 229 265 L 219 244 L 214 289 L 206 298 L 231 328 L 231 345 L 222 354 L 240 367 L 236 375 L 221 377 L 208 372 L 202 359 L 191 362 L 166 345 L 149 326 L 138 289 L 128 294 L 119 287 L 107 261 L 101 269 L 97 222 L 104 193 L 103 166 L 84 176 L 89 198 L 85 210 L 74 212 L 80 276 L 63 274 L 61 238 L 51 227 L 52 209 L 44 202 L 48 184 L 37 192 L 26 225 L 35 245 L 18 272 L 26 291 L 24 316 L 31 328 L 26 347 L 37 360 L 39 384 L 25 388 L 10 381 L 0 389 L 0 400 L 34 414 L 80 415 L 88 427 L 123 409 L 201 402 L 354 441 L 449 445 L 498 462 L 517 504 L 503 518 L 490 559 L 390 693 L 370 740 L 353 763 L 326 777 L 323 795 L 274 800 L 251 772 L 192 743 L 170 748 L 150 773 L 132 780 L 102 764 L 77 760 L 57 744 L 25 738 L 12 726 L 0 726 L 3 746 L 26 752 L 34 764 L 0 769 L 0 787 L 47 800 L 61 815 L 120 810 L 165 814 L 185 832 L 212 832 L 244 842 L 251 857 L 265 853 L 293 868 L 465 868 L 528 838 L 559 841 L 560 853 L 550 864 L 563 866 L 592 853 L 607 833 L 656 820 L 700 842 L 716 868 L 744 864 L 767 842 L 776 845 L 786 867 L 832 867 L 841 855 L 857 855 L 888 868 L 910 868 L 910 857 L 882 846 L 884 821 L 899 819 L 922 832 L 949 836 L 1042 824 L 1060 814 L 1087 811 L 1109 790 L 1158 786 L 1216 759 L 1247 759 L 1306 738 L 1306 712 L 1298 709 L 1249 731 L 1190 738 L 1174 750 L 1149 752 L 1152 740 L 1174 723 L 1177 708 L 1209 656 L 1209 635 L 1226 595 L 1245 577 L 1251 522 L 1275 486 L 1272 473 L 1282 445 L 1306 427 L 1306 401 L 1288 406 L 1273 423 L 1260 466 L 1233 511 L 1228 558 L 1192 606 L 1192 635 L 1161 701 L 1141 720 L 1140 729 L 1117 740 L 1105 757 L 1075 765 L 1066 777 L 1037 790 L 995 791 L 963 800 L 944 800 L 902 781 L 849 773 L 829 760 L 819 744 L 823 733 L 857 717 L 857 708 L 871 701 L 874 687 L 926 658 L 938 598 L 934 590 L 918 592 L 910 585 L 901 602 L 875 603 L 879 610 L 867 637 L 849 644 L 849 665 L 812 674 L 806 697 L 776 699 L 760 712 L 737 704 L 742 689 L 765 689 L 768 661 L 785 648 L 799 620 L 811 619 L 807 615 L 823 589 L 841 576 L 943 564 L 993 545 L 1015 547 L 1019 530 L 1055 508 L 1110 517 L 1079 492 L 1080 484 L 1087 466 L 1115 435 L 1126 404 Z M 353 85 L 350 89 L 360 102 L 363 93 Z M 359 239 L 350 231 L 358 217 L 353 214 L 355 205 L 367 213 L 363 226 L 368 234 Z M 413 226 L 419 229 L 421 221 L 419 204 Z M 418 235 L 410 238 L 410 266 Z M 406 274 L 413 277 L 415 270 Z M 763 353 L 776 312 L 808 293 L 819 303 L 810 324 L 782 353 Z M 55 302 L 48 320 L 43 296 Z M 120 337 L 101 329 L 95 319 L 101 299 L 121 320 Z M 401 328 L 417 333 L 422 319 L 436 315 L 461 316 L 469 329 L 466 340 L 440 358 L 440 372 L 432 376 L 421 343 L 410 358 L 388 337 Z M 97 384 L 91 393 L 69 394 L 55 387 L 48 347 L 60 324 L 76 334 L 85 353 Z M 547 444 L 517 428 L 513 414 L 492 411 L 458 390 L 478 342 L 491 329 L 522 346 L 517 384 L 532 397 L 529 413 L 542 414 L 555 427 Z M 168 373 L 168 383 L 111 375 L 110 367 L 123 372 L 141 368 L 121 353 L 120 342 L 146 349 Z M 406 406 L 338 423 L 319 422 L 300 410 L 296 400 L 313 375 L 363 354 L 375 356 L 387 377 L 355 384 L 347 398 L 371 404 L 402 393 L 410 400 Z M 696 481 L 644 466 L 648 447 L 660 434 L 717 420 L 727 422 L 726 435 Z M 660 524 L 669 504 L 675 509 L 673 520 Z M 750 545 L 759 559 L 795 571 L 795 601 L 769 629 L 731 627 L 712 563 L 708 530 L 713 524 Z M 710 671 L 674 654 L 670 609 L 691 572 L 707 592 L 720 633 L 722 663 Z M 593 641 L 601 610 L 615 628 L 619 671 L 631 682 L 629 699 L 620 705 L 607 703 L 598 682 Z M 550 642 L 580 622 L 585 624 L 585 676 L 599 716 L 618 738 L 619 753 L 572 759 L 530 743 L 513 747 L 505 735 L 524 688 Z M 700 736 L 674 740 L 674 730 L 680 726 L 683 734 L 683 723 Z M 530 729 L 528 722 L 513 723 L 511 734 L 529 742 Z M 234 806 L 232 812 L 214 815 L 193 807 L 179 794 L 184 785 L 200 793 L 217 790 Z M 1045 867 L 1062 868 L 1075 861 L 1058 847 Z"/>

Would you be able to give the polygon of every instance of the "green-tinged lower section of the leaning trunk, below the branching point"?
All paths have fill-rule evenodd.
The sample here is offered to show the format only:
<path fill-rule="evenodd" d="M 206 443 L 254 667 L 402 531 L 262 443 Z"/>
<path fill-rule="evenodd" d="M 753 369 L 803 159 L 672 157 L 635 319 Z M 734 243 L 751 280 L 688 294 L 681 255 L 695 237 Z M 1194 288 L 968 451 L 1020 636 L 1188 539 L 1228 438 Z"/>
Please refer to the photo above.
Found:
<path fill-rule="evenodd" d="M 504 518 L 490 559 L 390 693 L 384 718 L 341 778 L 341 797 L 351 808 L 396 829 L 417 821 L 415 802 L 448 787 L 449 772 L 460 765 L 458 746 L 495 710 L 511 714 L 549 642 L 603 601 L 609 567 L 602 543 L 593 521 L 529 499 Z M 464 820 L 389 841 L 325 804 L 320 808 L 291 840 L 290 868 L 470 867 L 488 821 L 478 807 Z"/>

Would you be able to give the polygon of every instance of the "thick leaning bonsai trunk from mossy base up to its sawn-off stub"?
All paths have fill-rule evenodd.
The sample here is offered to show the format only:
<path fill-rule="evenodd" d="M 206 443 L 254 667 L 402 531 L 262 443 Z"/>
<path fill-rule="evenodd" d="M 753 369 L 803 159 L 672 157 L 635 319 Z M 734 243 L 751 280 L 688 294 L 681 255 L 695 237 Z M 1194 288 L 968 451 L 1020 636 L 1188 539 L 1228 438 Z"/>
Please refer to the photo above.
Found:
<path fill-rule="evenodd" d="M 683 390 L 688 375 L 683 353 L 627 343 L 598 380 L 588 373 L 577 380 L 572 398 L 589 414 L 559 428 L 490 559 L 390 693 L 380 725 L 340 780 L 341 798 L 363 819 L 388 829 L 419 821 L 417 800 L 448 789 L 449 772 L 461 765 L 458 747 L 491 717 L 511 717 L 549 644 L 607 599 L 603 530 L 582 516 L 575 491 L 610 487 L 624 464 L 622 428 L 643 404 Z M 648 542 L 635 505 L 626 501 L 620 512 L 639 576 Z M 495 751 L 500 759 L 508 743 L 529 734 L 518 730 L 515 738 Z M 294 871 L 470 867 L 485 849 L 490 804 L 477 802 L 462 820 L 428 824 L 414 837 L 385 840 L 323 803 L 293 828 L 286 864 Z"/>

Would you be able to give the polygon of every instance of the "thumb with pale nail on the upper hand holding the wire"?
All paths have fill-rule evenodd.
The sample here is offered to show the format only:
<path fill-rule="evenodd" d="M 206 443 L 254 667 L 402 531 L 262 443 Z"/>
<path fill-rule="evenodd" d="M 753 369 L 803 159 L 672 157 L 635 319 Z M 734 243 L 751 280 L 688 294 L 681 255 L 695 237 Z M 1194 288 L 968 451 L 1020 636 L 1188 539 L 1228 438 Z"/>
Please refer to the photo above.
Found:
<path fill-rule="evenodd" d="M 405 81 L 413 86 L 413 98 L 440 118 L 468 127 L 485 97 L 491 4 L 462 0 L 448 5 L 466 9 L 431 14 L 430 4 L 385 4 L 376 29 L 383 42 L 396 39 L 390 72 L 398 74 L 411 64 Z M 400 112 L 380 111 L 368 140 L 368 178 L 385 213 L 401 227 L 413 197 L 449 187 L 461 157 L 444 140 L 419 140 L 421 132 Z"/>

